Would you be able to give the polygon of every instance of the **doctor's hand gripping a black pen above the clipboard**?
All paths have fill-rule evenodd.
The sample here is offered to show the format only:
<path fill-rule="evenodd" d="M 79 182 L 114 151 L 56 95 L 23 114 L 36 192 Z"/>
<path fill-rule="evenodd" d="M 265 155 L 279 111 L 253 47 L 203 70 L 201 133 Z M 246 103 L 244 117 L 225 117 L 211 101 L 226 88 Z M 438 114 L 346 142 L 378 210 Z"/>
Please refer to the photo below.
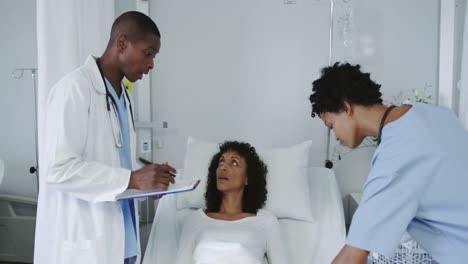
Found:
<path fill-rule="evenodd" d="M 165 191 L 169 183 L 174 183 L 174 177 L 169 174 L 169 171 L 176 172 L 174 168 L 166 163 L 146 165 L 139 170 L 132 171 L 128 188 Z"/>

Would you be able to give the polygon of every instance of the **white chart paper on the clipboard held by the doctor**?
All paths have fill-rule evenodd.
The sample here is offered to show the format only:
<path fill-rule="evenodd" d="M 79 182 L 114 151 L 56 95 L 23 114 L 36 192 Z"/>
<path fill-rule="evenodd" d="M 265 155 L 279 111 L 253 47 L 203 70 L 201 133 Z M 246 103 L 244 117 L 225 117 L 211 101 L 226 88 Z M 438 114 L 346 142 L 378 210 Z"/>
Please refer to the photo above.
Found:
<path fill-rule="evenodd" d="M 197 188 L 199 183 L 200 183 L 200 180 L 193 180 L 193 181 L 177 180 L 176 183 L 170 184 L 169 188 L 166 191 L 127 189 L 125 192 L 117 195 L 117 200 L 160 196 L 160 195 L 166 195 L 166 194 L 171 194 L 171 193 L 189 192 L 189 191 L 195 190 L 195 188 Z"/>

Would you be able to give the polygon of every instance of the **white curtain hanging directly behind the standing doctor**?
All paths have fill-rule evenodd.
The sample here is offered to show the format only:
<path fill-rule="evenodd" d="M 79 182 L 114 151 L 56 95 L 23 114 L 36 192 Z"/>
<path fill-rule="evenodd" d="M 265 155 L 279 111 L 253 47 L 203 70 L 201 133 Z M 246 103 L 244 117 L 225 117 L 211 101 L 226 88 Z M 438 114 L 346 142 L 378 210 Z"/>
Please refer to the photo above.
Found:
<path fill-rule="evenodd" d="M 49 90 L 88 55 L 103 53 L 114 18 L 114 0 L 37 1 L 39 177 Z"/>

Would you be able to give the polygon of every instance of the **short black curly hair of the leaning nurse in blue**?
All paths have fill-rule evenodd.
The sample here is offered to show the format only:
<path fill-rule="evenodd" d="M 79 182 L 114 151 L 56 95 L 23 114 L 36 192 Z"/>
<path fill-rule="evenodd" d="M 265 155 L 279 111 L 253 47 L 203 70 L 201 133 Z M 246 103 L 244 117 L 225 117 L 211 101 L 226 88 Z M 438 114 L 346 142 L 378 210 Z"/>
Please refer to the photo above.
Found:
<path fill-rule="evenodd" d="M 322 69 L 322 75 L 312 83 L 312 117 L 321 113 L 339 113 L 344 102 L 370 106 L 382 103 L 380 84 L 370 79 L 369 73 L 363 73 L 361 66 L 336 62 L 333 66 Z"/>

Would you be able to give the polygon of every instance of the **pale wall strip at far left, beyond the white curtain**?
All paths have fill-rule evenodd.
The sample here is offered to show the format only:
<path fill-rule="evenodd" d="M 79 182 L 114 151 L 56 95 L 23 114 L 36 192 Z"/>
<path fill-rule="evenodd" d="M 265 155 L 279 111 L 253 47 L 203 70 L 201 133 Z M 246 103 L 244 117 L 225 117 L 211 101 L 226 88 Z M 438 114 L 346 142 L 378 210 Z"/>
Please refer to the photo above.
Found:
<path fill-rule="evenodd" d="M 0 1 L 0 157 L 5 178 L 0 193 L 36 197 L 33 82 L 30 72 L 12 78 L 15 68 L 37 67 L 36 1 Z"/>

